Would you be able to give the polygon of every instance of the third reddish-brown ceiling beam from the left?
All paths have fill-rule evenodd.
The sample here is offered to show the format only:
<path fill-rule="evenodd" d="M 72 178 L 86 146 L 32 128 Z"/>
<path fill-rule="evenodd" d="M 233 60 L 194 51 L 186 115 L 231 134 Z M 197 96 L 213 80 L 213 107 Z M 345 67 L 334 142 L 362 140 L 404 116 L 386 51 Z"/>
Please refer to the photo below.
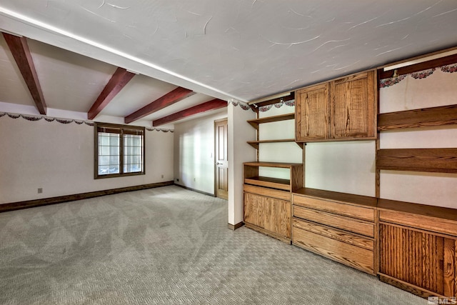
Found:
<path fill-rule="evenodd" d="M 144 116 L 149 116 L 149 114 L 154 114 L 154 112 L 164 109 L 167 106 L 171 106 L 186 97 L 194 95 L 195 92 L 189 89 L 178 87 L 173 91 L 165 94 L 164 96 L 152 101 L 150 104 L 144 106 L 143 108 L 135 111 L 133 114 L 129 114 L 124 118 L 125 124 L 129 124 L 133 121 L 144 118 Z"/>

